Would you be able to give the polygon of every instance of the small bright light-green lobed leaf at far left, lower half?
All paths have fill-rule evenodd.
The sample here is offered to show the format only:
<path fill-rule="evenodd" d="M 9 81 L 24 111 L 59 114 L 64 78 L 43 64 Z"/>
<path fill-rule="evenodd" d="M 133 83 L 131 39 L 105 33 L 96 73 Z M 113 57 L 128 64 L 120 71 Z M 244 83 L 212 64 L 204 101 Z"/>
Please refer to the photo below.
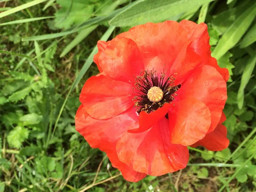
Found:
<path fill-rule="evenodd" d="M 29 130 L 17 126 L 7 135 L 7 142 L 11 147 L 20 148 L 22 142 L 24 142 L 29 137 Z"/>

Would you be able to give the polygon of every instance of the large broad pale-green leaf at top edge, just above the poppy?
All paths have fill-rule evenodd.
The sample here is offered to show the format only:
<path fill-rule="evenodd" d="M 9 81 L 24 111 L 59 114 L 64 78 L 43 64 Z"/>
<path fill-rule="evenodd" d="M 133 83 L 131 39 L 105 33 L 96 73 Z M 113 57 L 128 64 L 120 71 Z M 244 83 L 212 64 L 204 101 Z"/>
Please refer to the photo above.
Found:
<path fill-rule="evenodd" d="M 212 0 L 139 0 L 110 21 L 113 26 L 135 26 L 159 22 L 209 3 Z"/>

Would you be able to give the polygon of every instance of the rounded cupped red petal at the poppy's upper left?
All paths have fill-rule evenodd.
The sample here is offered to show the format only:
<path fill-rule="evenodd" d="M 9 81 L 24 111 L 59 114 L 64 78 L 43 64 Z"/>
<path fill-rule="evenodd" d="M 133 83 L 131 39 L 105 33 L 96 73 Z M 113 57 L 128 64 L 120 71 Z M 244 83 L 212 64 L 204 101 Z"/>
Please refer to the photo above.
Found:
<path fill-rule="evenodd" d="M 144 64 L 137 44 L 128 38 L 114 38 L 98 57 L 99 66 L 111 78 L 134 82 Z"/>

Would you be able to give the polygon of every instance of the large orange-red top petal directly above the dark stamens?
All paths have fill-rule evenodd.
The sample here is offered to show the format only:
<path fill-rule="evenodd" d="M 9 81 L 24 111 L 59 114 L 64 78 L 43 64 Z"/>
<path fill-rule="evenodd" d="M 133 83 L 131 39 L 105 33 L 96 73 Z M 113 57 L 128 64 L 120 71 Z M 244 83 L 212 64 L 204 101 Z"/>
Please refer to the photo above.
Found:
<path fill-rule="evenodd" d="M 187 45 L 186 31 L 176 21 L 163 23 L 146 23 L 131 28 L 128 32 L 121 33 L 117 37 L 132 39 L 138 45 L 145 63 L 145 69 L 160 68 L 169 69 L 180 50 Z M 150 61 L 159 55 L 165 55 L 167 62 L 162 64 Z M 162 57 L 164 58 L 164 57 Z M 159 58 L 158 58 L 159 59 Z"/>

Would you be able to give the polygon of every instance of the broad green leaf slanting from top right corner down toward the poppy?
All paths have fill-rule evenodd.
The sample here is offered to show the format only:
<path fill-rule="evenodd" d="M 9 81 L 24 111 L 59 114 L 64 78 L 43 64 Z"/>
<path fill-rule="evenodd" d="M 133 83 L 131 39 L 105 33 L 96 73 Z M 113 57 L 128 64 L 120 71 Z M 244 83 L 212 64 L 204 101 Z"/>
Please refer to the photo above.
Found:
<path fill-rule="evenodd" d="M 256 3 L 248 8 L 240 17 L 230 26 L 229 29 L 222 35 L 217 46 L 212 52 L 212 57 L 217 60 L 225 53 L 234 47 L 240 38 L 244 35 L 250 24 L 256 16 Z"/>

